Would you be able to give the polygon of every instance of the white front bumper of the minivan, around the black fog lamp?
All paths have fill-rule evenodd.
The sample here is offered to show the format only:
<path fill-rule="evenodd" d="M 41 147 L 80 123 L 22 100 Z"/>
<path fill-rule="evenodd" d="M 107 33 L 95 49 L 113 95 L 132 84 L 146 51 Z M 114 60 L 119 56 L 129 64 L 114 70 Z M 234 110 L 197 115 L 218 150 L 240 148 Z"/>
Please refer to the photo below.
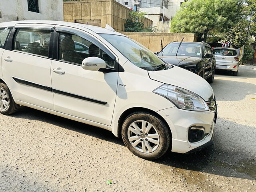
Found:
<path fill-rule="evenodd" d="M 176 107 L 158 111 L 164 117 L 172 132 L 172 152 L 187 153 L 200 150 L 204 146 L 211 145 L 214 135 L 214 120 L 216 112 L 195 112 L 181 110 Z M 188 130 L 191 126 L 205 128 L 206 136 L 198 142 L 188 141 Z"/>

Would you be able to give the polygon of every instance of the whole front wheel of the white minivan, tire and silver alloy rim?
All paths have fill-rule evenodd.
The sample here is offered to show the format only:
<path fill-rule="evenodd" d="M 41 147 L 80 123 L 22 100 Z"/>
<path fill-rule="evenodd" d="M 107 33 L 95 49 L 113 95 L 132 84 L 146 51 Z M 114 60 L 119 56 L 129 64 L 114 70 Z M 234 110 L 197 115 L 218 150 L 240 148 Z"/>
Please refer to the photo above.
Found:
<path fill-rule="evenodd" d="M 122 139 L 136 156 L 148 160 L 160 158 L 171 143 L 170 128 L 150 112 L 134 112 L 122 125 Z"/>

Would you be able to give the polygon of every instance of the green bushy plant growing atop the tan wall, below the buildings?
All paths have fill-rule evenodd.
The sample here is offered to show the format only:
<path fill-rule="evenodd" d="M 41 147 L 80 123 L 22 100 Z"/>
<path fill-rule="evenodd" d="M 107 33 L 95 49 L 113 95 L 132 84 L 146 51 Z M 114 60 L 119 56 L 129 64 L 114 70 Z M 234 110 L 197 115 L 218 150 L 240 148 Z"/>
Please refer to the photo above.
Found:
<path fill-rule="evenodd" d="M 157 32 L 156 28 L 147 27 L 144 28 L 143 20 L 146 12 L 130 11 L 129 18 L 126 19 L 124 24 L 125 32 Z"/>

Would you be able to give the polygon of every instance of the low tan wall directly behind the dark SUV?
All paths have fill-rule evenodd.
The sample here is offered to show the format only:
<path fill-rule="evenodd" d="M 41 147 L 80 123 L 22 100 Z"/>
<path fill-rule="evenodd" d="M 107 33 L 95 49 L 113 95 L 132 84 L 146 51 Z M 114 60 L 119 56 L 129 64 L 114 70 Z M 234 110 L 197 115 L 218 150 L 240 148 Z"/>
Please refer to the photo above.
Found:
<path fill-rule="evenodd" d="M 136 32 L 121 32 L 122 34 L 138 41 L 152 52 L 161 50 L 161 39 L 163 46 L 173 41 L 181 41 L 184 37 L 184 42 L 194 42 L 197 37 L 193 33 L 136 33 Z"/>

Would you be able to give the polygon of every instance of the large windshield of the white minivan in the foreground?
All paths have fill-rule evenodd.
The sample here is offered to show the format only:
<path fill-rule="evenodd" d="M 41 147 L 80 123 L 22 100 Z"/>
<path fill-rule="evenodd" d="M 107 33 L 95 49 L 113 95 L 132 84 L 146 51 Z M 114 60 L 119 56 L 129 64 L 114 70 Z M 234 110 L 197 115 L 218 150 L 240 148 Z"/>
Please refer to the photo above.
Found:
<path fill-rule="evenodd" d="M 166 70 L 172 66 L 138 42 L 126 36 L 100 34 L 134 65 L 148 71 Z"/>

